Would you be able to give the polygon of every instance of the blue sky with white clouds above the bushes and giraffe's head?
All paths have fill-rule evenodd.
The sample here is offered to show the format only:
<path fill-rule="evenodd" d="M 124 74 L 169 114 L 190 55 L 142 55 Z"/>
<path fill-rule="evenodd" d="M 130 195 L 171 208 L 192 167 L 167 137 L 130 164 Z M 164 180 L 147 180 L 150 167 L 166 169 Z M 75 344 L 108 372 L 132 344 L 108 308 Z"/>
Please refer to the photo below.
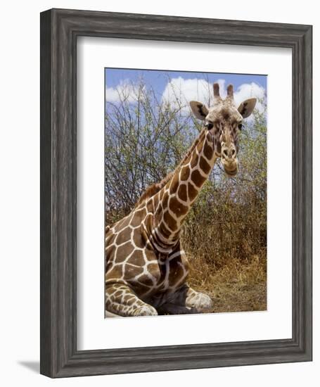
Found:
<path fill-rule="evenodd" d="M 267 75 L 230 74 L 222 72 L 181 72 L 165 70 L 135 70 L 105 68 L 105 108 L 108 103 L 118 104 L 125 100 L 134 104 L 138 100 L 139 82 L 143 79 L 143 92 L 152 88 L 158 103 L 181 106 L 190 113 L 190 101 L 212 105 L 214 82 L 220 86 L 220 96 L 226 97 L 226 87 L 233 84 L 236 106 L 249 98 L 257 98 L 255 108 L 265 112 L 267 103 Z M 253 120 L 253 116 L 248 121 Z"/>

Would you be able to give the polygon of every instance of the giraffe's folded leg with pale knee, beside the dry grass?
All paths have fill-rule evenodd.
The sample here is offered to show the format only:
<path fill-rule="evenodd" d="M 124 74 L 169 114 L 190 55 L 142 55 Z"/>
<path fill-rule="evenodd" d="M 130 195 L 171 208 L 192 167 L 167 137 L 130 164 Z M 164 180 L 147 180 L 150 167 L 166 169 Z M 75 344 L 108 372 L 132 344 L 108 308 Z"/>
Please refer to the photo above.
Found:
<path fill-rule="evenodd" d="M 212 312 L 212 300 L 207 294 L 193 290 L 184 284 L 170 296 L 167 303 L 161 305 L 160 311 L 172 315 L 185 313 Z"/>

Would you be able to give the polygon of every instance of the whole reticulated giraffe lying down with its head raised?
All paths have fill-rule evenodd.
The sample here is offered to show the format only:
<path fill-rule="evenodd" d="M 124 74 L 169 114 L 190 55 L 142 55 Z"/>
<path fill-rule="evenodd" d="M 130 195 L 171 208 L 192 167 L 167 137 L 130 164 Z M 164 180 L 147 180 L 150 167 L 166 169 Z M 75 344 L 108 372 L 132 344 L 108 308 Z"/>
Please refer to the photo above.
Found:
<path fill-rule="evenodd" d="M 212 310 L 211 298 L 187 284 L 180 231 L 217 158 L 226 175 L 236 175 L 238 133 L 256 103 L 247 99 L 237 108 L 231 84 L 225 99 L 218 83 L 213 90 L 212 107 L 190 102 L 203 127 L 174 172 L 146 189 L 129 215 L 105 228 L 105 317 Z"/>

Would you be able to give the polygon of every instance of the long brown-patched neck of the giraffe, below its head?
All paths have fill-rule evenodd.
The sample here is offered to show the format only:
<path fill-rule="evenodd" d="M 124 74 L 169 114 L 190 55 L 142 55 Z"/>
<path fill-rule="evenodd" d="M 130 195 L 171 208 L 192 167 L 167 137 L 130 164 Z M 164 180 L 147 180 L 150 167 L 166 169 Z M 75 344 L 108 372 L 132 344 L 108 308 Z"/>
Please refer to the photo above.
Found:
<path fill-rule="evenodd" d="M 217 160 L 215 139 L 207 129 L 200 132 L 196 146 L 189 153 L 172 179 L 153 196 L 152 234 L 164 246 L 177 243 L 184 219 Z"/>

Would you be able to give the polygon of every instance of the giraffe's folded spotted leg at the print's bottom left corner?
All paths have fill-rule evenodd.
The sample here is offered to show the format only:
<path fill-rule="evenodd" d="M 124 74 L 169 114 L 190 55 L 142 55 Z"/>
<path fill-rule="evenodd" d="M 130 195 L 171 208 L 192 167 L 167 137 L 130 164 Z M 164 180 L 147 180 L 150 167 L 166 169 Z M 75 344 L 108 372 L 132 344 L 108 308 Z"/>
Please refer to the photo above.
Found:
<path fill-rule="evenodd" d="M 105 287 L 106 315 L 129 316 L 156 316 L 155 308 L 144 303 L 136 296 L 129 286 L 112 284 Z"/>

